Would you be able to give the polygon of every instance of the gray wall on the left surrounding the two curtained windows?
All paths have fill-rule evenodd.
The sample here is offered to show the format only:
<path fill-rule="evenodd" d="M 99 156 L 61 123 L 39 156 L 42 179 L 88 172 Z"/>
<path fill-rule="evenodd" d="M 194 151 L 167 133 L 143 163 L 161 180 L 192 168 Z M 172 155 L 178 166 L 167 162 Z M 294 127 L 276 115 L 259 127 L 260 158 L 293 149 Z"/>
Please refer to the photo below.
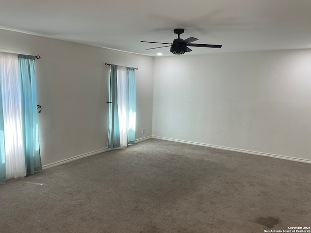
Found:
<path fill-rule="evenodd" d="M 152 135 L 152 57 L 6 30 L 0 30 L 0 51 L 41 56 L 36 60 L 36 84 L 42 106 L 38 121 L 43 165 L 107 147 L 105 62 L 139 68 L 136 139 Z"/>

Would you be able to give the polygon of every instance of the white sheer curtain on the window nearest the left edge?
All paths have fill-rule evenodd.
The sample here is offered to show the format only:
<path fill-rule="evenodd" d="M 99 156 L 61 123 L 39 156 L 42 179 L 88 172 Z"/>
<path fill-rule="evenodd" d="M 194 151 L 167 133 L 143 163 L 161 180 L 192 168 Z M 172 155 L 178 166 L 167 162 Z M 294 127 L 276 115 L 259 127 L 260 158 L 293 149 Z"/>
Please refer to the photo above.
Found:
<path fill-rule="evenodd" d="M 0 52 L 6 179 L 26 176 L 18 55 Z"/>

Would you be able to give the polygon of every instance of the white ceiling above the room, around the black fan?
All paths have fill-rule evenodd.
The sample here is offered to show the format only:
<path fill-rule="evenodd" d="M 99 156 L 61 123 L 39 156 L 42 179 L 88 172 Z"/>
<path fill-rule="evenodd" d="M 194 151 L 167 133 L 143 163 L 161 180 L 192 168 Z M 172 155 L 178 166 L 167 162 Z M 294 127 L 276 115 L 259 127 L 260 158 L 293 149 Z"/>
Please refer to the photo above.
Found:
<path fill-rule="evenodd" d="M 0 28 L 156 56 L 175 28 L 189 54 L 311 48 L 311 0 L 0 0 Z M 159 45 L 161 46 L 161 45 Z"/>

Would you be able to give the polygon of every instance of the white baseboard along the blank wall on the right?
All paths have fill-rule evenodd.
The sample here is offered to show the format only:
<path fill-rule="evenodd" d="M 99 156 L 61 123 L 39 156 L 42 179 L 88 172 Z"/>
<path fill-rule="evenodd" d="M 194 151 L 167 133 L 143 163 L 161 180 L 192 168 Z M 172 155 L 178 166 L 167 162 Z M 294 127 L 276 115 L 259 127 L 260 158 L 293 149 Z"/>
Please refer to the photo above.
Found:
<path fill-rule="evenodd" d="M 303 163 L 311 164 L 311 160 L 309 159 L 301 159 L 301 158 L 294 158 L 294 157 L 277 155 L 277 154 L 262 153 L 262 152 L 252 151 L 252 150 L 242 150 L 242 149 L 236 149 L 236 148 L 230 148 L 230 147 L 214 146 L 214 145 L 209 145 L 209 144 L 204 144 L 204 143 L 190 142 L 190 141 L 178 140 L 178 139 L 167 138 L 167 137 L 152 136 L 152 138 L 172 141 L 172 142 L 186 143 L 186 144 L 191 144 L 191 145 L 198 145 L 198 146 L 203 146 L 203 147 L 222 149 L 222 150 L 237 151 L 237 152 L 247 153 L 247 154 L 256 154 L 256 155 L 262 155 L 262 156 L 268 156 L 268 157 L 273 157 L 273 158 L 278 158 L 278 159 L 286 159 L 286 160 L 292 160 L 296 162 L 303 162 Z"/>

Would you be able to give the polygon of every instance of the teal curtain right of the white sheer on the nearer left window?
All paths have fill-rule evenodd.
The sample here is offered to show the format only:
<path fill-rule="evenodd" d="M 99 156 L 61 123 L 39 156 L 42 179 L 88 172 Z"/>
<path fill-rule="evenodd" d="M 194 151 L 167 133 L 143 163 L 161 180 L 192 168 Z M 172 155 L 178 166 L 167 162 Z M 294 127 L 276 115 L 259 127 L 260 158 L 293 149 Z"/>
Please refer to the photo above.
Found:
<path fill-rule="evenodd" d="M 18 75 L 21 79 L 22 131 L 27 174 L 42 170 L 35 85 L 35 56 L 18 55 Z"/>

